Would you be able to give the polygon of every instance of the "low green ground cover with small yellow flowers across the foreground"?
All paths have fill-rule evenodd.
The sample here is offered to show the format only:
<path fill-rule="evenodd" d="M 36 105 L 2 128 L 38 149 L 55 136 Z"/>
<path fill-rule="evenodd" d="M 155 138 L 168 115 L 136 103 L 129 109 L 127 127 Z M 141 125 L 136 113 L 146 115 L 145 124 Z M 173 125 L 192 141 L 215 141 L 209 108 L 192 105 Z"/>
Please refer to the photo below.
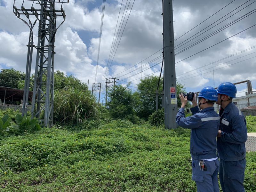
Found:
<path fill-rule="evenodd" d="M 0 188 L 196 191 L 191 180 L 189 136 L 189 130 L 182 128 L 165 130 L 163 126 L 113 120 L 2 137 Z M 245 188 L 255 191 L 256 152 L 248 152 L 246 161 Z"/>

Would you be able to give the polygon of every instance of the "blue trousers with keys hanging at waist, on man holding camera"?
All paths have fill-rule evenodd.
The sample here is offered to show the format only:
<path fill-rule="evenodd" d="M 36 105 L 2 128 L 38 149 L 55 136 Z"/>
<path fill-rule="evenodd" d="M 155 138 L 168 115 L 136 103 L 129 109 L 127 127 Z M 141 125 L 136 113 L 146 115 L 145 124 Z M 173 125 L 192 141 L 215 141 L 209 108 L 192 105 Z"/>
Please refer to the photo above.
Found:
<path fill-rule="evenodd" d="M 204 162 L 206 171 L 200 170 L 198 159 L 192 160 L 192 180 L 196 181 L 197 192 L 219 192 L 219 159 Z"/>

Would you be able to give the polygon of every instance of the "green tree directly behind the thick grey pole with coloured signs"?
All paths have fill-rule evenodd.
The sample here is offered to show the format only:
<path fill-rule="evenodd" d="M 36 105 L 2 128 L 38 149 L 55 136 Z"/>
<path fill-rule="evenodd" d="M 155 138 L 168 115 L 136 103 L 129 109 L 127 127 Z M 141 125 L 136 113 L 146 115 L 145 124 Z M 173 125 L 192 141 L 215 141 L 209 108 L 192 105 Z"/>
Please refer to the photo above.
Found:
<path fill-rule="evenodd" d="M 140 80 L 138 84 L 138 91 L 134 93 L 134 98 L 136 99 L 135 110 L 140 118 L 148 119 L 156 110 L 156 89 L 159 81 L 158 76 L 148 76 Z M 163 78 L 160 79 L 159 83 L 159 93 L 162 92 L 163 88 Z M 184 85 L 177 82 L 177 93 L 184 92 Z M 161 108 L 162 97 L 158 97 L 158 106 Z M 181 106 L 180 100 L 178 99 L 178 107 Z"/>

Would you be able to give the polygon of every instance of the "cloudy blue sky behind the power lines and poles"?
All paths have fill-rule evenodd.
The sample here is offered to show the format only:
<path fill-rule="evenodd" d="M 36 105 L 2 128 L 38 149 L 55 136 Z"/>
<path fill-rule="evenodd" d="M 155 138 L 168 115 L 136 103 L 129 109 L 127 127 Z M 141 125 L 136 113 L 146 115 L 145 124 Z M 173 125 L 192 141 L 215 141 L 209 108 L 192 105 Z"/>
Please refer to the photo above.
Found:
<path fill-rule="evenodd" d="M 131 82 L 130 88 L 135 91 L 141 77 L 159 76 L 163 51 L 161 0 L 106 0 L 97 67 L 102 2 L 69 0 L 68 4 L 63 4 L 67 16 L 56 33 L 54 69 L 74 75 L 85 83 L 89 80 L 90 90 L 92 83 L 102 83 L 101 100 L 107 77 L 116 77 L 119 84 Z M 177 81 L 188 92 L 197 92 L 205 86 L 217 87 L 221 82 L 249 79 L 253 91 L 256 91 L 256 2 L 172 2 Z M 16 7 L 21 7 L 21 4 L 22 0 L 16 0 Z M 25 8 L 31 5 L 32 1 L 25 0 Z M 56 3 L 56 9 L 60 5 Z M 12 67 L 24 72 L 29 29 L 14 15 L 12 6 L 12 0 L 0 0 L 0 68 Z M 124 22 L 121 22 L 122 16 Z M 57 25 L 62 20 L 57 18 Z M 33 29 L 34 44 L 37 44 L 37 30 L 38 24 Z M 116 45 L 114 49 L 111 48 L 112 42 Z M 35 71 L 35 57 L 36 50 L 33 52 L 32 73 Z M 236 87 L 237 96 L 245 95 L 245 83 Z M 98 93 L 95 94 L 98 97 Z"/>

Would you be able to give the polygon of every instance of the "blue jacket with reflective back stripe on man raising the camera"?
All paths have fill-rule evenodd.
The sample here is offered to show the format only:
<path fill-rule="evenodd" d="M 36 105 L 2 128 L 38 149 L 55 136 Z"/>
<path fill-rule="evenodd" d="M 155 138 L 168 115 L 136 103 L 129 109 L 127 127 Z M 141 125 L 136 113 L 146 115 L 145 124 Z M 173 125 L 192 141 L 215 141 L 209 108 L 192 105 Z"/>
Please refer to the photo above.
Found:
<path fill-rule="evenodd" d="M 213 107 L 190 108 L 193 116 L 185 117 L 184 108 L 180 108 L 176 123 L 183 128 L 191 129 L 190 154 L 193 159 L 211 159 L 217 157 L 216 137 L 220 126 L 220 117 Z"/>

